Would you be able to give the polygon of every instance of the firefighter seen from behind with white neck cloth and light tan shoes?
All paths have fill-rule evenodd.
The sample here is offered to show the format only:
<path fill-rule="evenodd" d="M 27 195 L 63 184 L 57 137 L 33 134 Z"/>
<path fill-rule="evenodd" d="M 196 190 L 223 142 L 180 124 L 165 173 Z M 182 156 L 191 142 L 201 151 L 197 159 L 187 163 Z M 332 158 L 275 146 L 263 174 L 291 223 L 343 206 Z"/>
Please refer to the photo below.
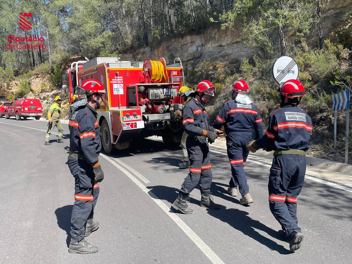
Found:
<path fill-rule="evenodd" d="M 244 165 L 249 151 L 246 148 L 252 139 L 252 129 L 256 132 L 256 139 L 263 137 L 263 121 L 253 100 L 247 96 L 248 84 L 244 80 L 233 83 L 232 100 L 224 103 L 219 115 L 214 121 L 214 128 L 225 127 L 227 155 L 230 159 L 232 177 L 227 192 L 237 196 L 237 186 L 242 196 L 241 205 L 253 202 L 249 194 Z"/>

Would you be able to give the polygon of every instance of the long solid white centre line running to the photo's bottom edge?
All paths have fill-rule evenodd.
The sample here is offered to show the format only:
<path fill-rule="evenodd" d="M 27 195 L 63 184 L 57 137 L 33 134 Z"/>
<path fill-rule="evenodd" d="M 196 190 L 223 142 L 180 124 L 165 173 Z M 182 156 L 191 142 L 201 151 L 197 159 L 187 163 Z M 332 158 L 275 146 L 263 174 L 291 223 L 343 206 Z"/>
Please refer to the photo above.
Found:
<path fill-rule="evenodd" d="M 183 222 L 176 214 L 170 213 L 170 208 L 165 205 L 165 203 L 160 200 L 153 192 L 149 189 L 147 189 L 143 183 L 137 180 L 137 178 L 133 177 L 130 172 L 122 168 L 120 165 L 116 164 L 114 160 L 109 158 L 108 156 L 100 153 L 100 155 L 105 158 L 108 162 L 113 164 L 115 167 L 117 167 L 120 171 L 122 171 L 128 178 L 130 178 L 134 183 L 137 184 L 139 188 L 141 188 L 146 194 L 149 195 L 149 197 L 161 208 L 163 211 L 182 229 L 184 233 L 196 244 L 197 247 L 209 258 L 209 260 L 212 263 L 216 264 L 225 264 L 218 255 L 215 254 L 215 252 L 210 249 L 210 247 L 204 243 L 204 241 L 198 237 L 196 233 L 194 233 L 191 228 L 186 225 L 185 222 Z"/>

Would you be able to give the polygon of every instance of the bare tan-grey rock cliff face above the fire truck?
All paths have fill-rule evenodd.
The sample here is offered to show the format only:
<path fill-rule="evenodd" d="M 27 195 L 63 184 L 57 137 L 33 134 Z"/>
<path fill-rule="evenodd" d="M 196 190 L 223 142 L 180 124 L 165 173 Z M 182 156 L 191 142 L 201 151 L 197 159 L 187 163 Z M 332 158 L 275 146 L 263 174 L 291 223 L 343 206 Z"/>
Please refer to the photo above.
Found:
<path fill-rule="evenodd" d="M 243 43 L 241 32 L 212 28 L 202 34 L 171 38 L 152 48 L 144 47 L 131 53 L 123 53 L 121 56 L 131 61 L 160 57 L 168 61 L 169 57 L 179 57 L 184 66 L 197 65 L 205 60 L 220 61 L 224 62 L 227 67 L 233 68 L 244 58 L 250 58 L 257 52 L 258 49 L 249 48 Z"/>

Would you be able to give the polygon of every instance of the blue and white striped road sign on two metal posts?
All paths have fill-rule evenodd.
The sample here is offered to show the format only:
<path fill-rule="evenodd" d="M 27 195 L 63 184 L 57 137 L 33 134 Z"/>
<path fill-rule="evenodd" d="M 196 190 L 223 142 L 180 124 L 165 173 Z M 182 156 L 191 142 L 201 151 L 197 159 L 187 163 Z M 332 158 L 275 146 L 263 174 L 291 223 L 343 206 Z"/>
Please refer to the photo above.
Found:
<path fill-rule="evenodd" d="M 348 130 L 350 125 L 350 90 L 332 95 L 332 110 L 334 113 L 334 149 L 336 149 L 336 111 L 346 112 L 345 163 L 348 164 Z"/>

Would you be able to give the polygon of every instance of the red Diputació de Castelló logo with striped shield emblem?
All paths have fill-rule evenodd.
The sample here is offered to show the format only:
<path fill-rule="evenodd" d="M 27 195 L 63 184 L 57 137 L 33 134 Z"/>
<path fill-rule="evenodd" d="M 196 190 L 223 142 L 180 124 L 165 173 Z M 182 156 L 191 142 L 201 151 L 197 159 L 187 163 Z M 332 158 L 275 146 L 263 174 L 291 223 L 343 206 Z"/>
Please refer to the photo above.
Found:
<path fill-rule="evenodd" d="M 25 33 L 27 31 L 30 31 L 32 29 L 32 23 L 29 20 L 29 18 L 32 17 L 32 13 L 29 12 L 28 14 L 25 13 L 19 13 L 19 28 L 23 30 Z M 7 42 L 9 44 L 6 45 L 6 49 L 19 49 L 19 50 L 38 50 L 38 49 L 45 49 L 45 43 L 44 43 L 44 38 L 43 35 L 39 37 L 39 35 L 35 37 L 30 37 L 30 36 L 24 36 L 24 37 L 17 37 L 17 36 L 7 36 Z M 15 44 L 11 44 L 11 43 Z M 29 44 L 29 42 L 32 42 Z M 34 42 L 34 43 L 33 43 Z"/>

